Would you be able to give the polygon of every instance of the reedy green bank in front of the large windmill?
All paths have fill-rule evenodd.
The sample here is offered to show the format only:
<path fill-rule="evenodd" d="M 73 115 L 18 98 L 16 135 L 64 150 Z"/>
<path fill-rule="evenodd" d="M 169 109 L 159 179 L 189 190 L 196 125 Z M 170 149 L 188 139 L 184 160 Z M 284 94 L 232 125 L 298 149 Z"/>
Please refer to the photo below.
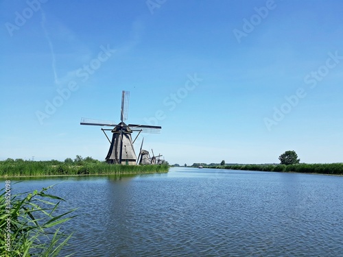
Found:
<path fill-rule="evenodd" d="M 168 169 L 167 163 L 158 165 L 107 164 L 91 157 L 82 158 L 81 156 L 76 156 L 74 160 L 67 158 L 64 162 L 22 159 L 0 161 L 0 177 L 166 173 Z"/>

